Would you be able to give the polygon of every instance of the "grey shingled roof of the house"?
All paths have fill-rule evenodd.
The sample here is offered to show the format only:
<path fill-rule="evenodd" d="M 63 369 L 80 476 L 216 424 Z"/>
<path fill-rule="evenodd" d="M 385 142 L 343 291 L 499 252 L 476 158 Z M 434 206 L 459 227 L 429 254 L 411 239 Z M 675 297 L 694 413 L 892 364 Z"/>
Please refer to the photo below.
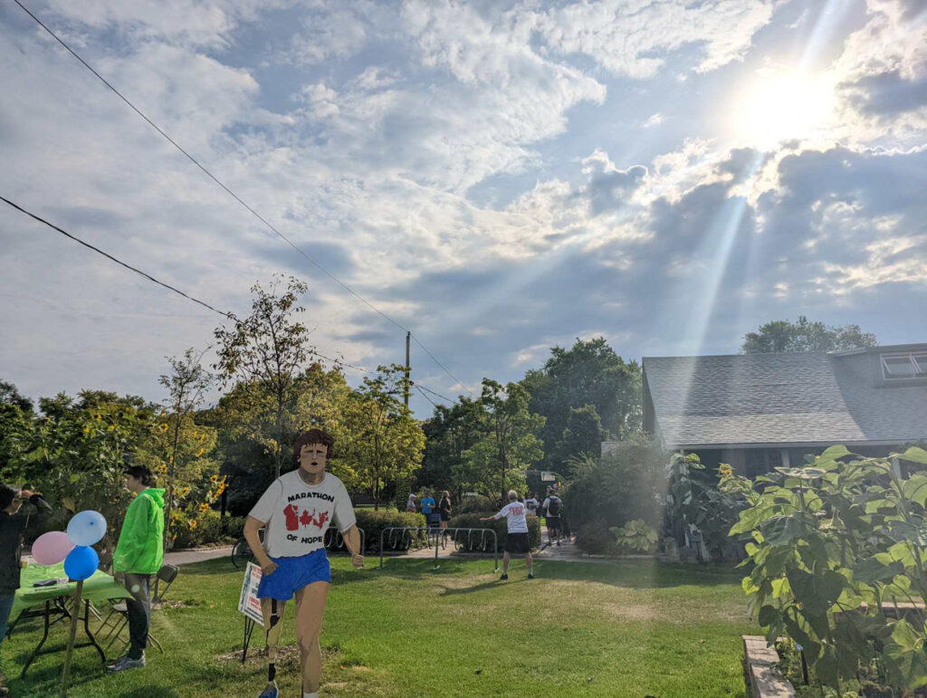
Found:
<path fill-rule="evenodd" d="M 927 439 L 927 386 L 876 387 L 872 359 L 867 352 L 657 357 L 644 358 L 643 369 L 655 427 L 669 447 Z"/>

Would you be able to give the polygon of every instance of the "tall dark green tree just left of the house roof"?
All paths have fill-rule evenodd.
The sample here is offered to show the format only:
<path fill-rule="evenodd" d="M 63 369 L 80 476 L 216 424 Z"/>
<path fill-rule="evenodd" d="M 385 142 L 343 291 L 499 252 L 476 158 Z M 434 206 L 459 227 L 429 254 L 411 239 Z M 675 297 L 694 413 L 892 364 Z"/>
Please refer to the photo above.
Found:
<path fill-rule="evenodd" d="M 553 347 L 544 367 L 529 371 L 522 385 L 531 394 L 531 412 L 547 418 L 540 437 L 549 470 L 561 464 L 557 443 L 572 408 L 591 405 L 606 438 L 626 439 L 641 430 L 641 366 L 625 362 L 601 336 L 577 339 L 570 349 Z"/>

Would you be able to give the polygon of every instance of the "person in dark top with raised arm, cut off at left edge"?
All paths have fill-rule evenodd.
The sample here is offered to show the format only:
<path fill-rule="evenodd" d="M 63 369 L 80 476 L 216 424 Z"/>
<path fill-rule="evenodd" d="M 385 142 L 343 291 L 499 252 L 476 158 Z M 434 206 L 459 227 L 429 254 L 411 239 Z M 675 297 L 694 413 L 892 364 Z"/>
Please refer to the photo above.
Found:
<path fill-rule="evenodd" d="M 19 511 L 22 502 L 29 500 L 37 510 L 37 516 L 23 514 Z M 13 610 L 13 600 L 19 589 L 19 571 L 22 569 L 22 534 L 30 521 L 33 522 L 51 507 L 44 499 L 29 489 L 13 489 L 0 485 L 0 654 L 6 638 L 9 614 Z M 0 664 L 0 695 L 9 695 L 6 677 Z"/>

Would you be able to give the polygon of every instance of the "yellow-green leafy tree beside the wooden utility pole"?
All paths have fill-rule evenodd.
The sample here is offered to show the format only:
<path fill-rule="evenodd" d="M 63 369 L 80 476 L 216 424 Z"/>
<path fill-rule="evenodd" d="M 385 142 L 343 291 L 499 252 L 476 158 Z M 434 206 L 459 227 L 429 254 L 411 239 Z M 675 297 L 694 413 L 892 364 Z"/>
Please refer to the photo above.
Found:
<path fill-rule="evenodd" d="M 405 366 L 377 367 L 344 400 L 332 429 L 333 472 L 349 486 L 369 488 L 375 510 L 384 487 L 412 476 L 422 463 L 425 434 L 401 400 L 404 386 Z"/>

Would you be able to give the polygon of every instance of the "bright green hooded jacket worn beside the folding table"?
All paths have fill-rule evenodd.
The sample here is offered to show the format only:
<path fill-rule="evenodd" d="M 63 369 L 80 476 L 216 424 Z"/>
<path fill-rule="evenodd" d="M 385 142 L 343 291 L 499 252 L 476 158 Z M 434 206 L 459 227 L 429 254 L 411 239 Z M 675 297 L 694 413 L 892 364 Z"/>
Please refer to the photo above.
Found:
<path fill-rule="evenodd" d="M 129 504 L 113 555 L 113 570 L 155 575 L 164 562 L 164 489 L 143 489 Z"/>

